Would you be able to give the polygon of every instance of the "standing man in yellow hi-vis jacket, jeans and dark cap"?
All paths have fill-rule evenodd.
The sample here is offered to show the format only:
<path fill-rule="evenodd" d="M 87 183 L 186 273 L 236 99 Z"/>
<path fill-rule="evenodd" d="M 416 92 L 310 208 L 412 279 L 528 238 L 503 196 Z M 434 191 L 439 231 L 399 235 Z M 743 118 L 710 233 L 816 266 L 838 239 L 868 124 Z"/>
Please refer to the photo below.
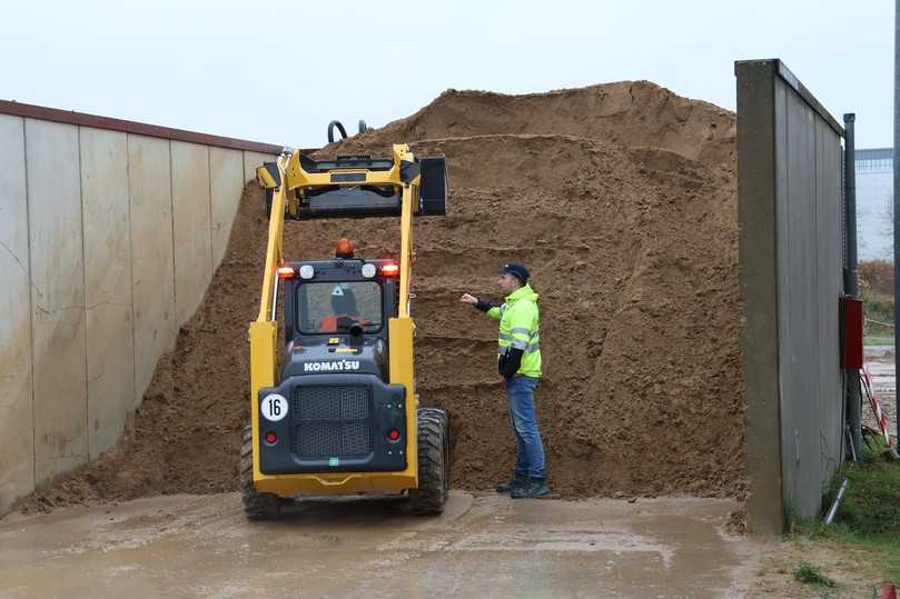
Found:
<path fill-rule="evenodd" d="M 550 495 L 550 488 L 534 410 L 534 389 L 541 380 L 537 293 L 528 284 L 528 269 L 517 262 L 500 269 L 497 284 L 506 293 L 503 303 L 468 293 L 459 299 L 500 320 L 497 370 L 506 380 L 506 399 L 516 438 L 516 465 L 510 481 L 497 486 L 497 491 L 508 492 L 514 499 L 543 498 Z"/>

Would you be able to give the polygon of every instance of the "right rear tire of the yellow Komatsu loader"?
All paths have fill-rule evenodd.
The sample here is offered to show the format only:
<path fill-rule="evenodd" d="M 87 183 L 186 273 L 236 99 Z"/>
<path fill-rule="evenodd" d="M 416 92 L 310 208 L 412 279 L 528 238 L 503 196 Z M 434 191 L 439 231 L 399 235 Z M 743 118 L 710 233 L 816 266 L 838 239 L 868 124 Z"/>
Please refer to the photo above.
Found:
<path fill-rule="evenodd" d="M 444 511 L 449 493 L 449 418 L 441 408 L 419 408 L 418 489 L 409 490 L 412 513 L 429 516 Z"/>

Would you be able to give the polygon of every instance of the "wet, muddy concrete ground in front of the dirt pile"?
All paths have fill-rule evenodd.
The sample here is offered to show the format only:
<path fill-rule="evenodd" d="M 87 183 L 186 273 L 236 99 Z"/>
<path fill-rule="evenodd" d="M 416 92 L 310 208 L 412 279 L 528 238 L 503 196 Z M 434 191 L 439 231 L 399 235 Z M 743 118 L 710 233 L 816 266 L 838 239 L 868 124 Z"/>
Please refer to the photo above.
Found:
<path fill-rule="evenodd" d="M 730 500 L 513 501 L 454 492 L 248 522 L 235 493 L 0 520 L 0 597 L 741 597 L 762 548 Z"/>

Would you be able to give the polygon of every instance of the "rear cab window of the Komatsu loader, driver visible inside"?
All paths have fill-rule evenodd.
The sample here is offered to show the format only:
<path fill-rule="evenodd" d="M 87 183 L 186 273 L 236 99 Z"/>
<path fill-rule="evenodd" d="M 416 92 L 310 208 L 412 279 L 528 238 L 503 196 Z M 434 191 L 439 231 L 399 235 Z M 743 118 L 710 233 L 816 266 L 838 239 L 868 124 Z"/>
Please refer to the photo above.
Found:
<path fill-rule="evenodd" d="M 309 282 L 297 288 L 297 323 L 303 335 L 366 333 L 382 329 L 382 286 L 375 281 Z"/>

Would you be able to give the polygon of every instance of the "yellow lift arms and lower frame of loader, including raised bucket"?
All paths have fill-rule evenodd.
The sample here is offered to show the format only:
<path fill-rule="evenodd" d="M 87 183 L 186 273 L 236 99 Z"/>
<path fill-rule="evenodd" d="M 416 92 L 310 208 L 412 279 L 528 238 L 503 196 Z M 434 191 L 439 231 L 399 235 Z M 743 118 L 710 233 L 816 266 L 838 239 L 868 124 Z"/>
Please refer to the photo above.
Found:
<path fill-rule="evenodd" d="M 257 169 L 269 210 L 268 244 L 259 313 L 250 323 L 250 419 L 253 482 L 260 493 L 297 495 L 402 492 L 419 486 L 413 365 L 415 325 L 409 316 L 409 282 L 414 259 L 413 217 L 443 216 L 447 192 L 443 157 L 416 159 L 406 144 L 394 144 L 390 159 L 340 156 L 315 161 L 299 150 Z M 387 322 L 388 380 L 405 396 L 405 468 L 396 471 L 335 471 L 267 475 L 260 469 L 260 390 L 278 386 L 278 325 L 275 320 L 278 268 L 284 266 L 285 219 L 399 217 L 400 251 L 397 316 Z M 348 465 L 350 466 L 350 465 Z M 337 469 L 336 469 L 337 470 Z"/>

